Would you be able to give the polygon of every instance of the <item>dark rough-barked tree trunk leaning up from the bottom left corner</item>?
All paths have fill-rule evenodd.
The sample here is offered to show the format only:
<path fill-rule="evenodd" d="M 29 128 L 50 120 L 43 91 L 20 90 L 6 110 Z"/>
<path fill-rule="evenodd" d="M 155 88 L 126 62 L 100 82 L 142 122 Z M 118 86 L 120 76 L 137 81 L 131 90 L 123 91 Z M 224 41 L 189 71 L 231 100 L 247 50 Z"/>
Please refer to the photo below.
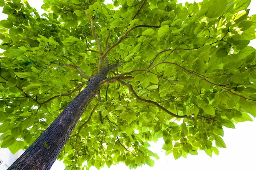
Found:
<path fill-rule="evenodd" d="M 99 92 L 106 73 L 95 75 L 47 130 L 12 164 L 8 170 L 49 170 L 69 139 L 86 107 Z"/>

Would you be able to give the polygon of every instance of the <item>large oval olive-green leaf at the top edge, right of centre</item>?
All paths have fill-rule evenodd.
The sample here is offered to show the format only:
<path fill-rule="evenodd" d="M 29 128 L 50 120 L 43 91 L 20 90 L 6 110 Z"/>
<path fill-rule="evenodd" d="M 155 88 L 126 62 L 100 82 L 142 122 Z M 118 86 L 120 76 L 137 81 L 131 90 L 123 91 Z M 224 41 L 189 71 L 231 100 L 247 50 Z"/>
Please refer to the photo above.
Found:
<path fill-rule="evenodd" d="M 216 0 L 208 7 L 205 16 L 209 18 L 220 17 L 227 7 L 227 0 Z"/>

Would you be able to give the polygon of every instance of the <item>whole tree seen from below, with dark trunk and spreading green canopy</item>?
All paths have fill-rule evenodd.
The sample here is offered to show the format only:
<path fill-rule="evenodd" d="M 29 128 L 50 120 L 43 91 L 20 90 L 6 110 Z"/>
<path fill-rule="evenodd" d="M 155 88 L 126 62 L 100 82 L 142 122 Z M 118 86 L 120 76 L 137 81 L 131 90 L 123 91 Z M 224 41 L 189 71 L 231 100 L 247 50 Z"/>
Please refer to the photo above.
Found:
<path fill-rule="evenodd" d="M 26 150 L 9 170 L 153 166 L 162 137 L 175 159 L 218 155 L 223 126 L 256 117 L 249 4 L 0 0 L 0 146 Z"/>

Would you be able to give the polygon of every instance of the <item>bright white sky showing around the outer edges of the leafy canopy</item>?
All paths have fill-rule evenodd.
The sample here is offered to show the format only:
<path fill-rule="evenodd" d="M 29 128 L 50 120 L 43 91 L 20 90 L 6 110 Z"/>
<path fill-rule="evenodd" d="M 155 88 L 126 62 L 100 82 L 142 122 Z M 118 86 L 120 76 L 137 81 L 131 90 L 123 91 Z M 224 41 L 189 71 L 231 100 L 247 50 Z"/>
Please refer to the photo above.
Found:
<path fill-rule="evenodd" d="M 43 0 L 28 0 L 30 6 L 36 8 L 39 13 L 43 13 L 44 10 L 41 9 Z M 186 1 L 194 2 L 194 0 L 178 0 L 179 3 L 184 3 Z M 195 0 L 200 2 L 201 0 Z M 105 0 L 105 2 L 112 3 L 112 0 Z M 254 8 L 253 8 L 254 7 Z M 256 8 L 256 0 L 252 0 L 249 9 L 250 14 L 256 14 L 253 10 Z M 3 8 L 0 8 L 2 12 Z M 5 14 L 0 13 L 0 20 L 6 19 Z M 0 42 L 1 43 L 1 42 Z M 256 40 L 250 43 L 256 49 Z M 0 49 L 0 52 L 3 50 Z M 175 160 L 172 154 L 165 156 L 165 151 L 162 151 L 163 140 L 159 141 L 157 144 L 151 143 L 151 150 L 154 153 L 158 153 L 160 156 L 159 160 L 155 160 L 154 167 L 149 167 L 144 165 L 143 167 L 138 167 L 137 170 L 155 170 L 155 169 L 189 169 L 189 170 L 255 170 L 256 169 L 256 122 L 244 122 L 236 124 L 236 129 L 228 129 L 224 127 L 224 141 L 227 148 L 219 148 L 219 156 L 212 154 L 212 158 L 209 157 L 204 151 L 199 151 L 197 156 L 188 155 L 187 158 L 180 157 Z M 55 161 L 51 170 L 64 170 L 65 166 L 61 161 Z M 118 164 L 116 166 L 111 166 L 111 170 L 129 170 L 125 164 Z M 91 167 L 90 170 L 96 170 L 95 167 Z M 109 170 L 105 165 L 102 170 Z"/>

